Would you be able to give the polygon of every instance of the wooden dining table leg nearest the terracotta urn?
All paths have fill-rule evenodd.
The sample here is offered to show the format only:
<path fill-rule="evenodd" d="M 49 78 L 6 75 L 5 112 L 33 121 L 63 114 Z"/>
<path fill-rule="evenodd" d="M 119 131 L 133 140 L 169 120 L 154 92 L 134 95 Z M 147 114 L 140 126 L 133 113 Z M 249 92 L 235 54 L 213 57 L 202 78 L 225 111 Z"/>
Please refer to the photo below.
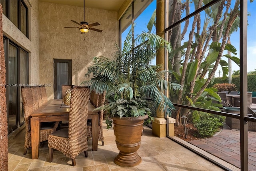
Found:
<path fill-rule="evenodd" d="M 98 150 L 98 127 L 99 127 L 99 115 L 92 115 L 92 151 Z"/>

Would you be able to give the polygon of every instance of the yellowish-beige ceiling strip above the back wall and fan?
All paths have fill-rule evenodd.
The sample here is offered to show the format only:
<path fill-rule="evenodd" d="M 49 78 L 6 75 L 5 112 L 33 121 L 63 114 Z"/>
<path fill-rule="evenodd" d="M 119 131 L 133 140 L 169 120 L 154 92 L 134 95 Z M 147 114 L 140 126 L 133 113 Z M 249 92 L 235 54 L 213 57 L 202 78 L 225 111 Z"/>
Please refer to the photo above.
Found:
<path fill-rule="evenodd" d="M 72 5 L 84 7 L 83 0 L 40 0 L 63 5 Z M 124 0 L 85 0 L 86 8 L 96 8 L 109 11 L 118 11 Z"/>

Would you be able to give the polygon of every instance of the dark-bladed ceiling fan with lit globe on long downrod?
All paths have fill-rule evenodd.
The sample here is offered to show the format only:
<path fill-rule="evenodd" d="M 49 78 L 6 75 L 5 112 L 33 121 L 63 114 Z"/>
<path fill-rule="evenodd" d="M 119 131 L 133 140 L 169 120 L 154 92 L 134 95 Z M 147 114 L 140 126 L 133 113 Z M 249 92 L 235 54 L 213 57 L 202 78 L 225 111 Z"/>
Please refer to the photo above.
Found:
<path fill-rule="evenodd" d="M 85 3 L 85 0 L 84 0 L 84 3 Z M 85 7 L 84 7 L 84 16 L 85 16 Z M 80 23 L 78 23 L 78 22 L 76 22 L 74 20 L 71 20 L 71 21 L 76 23 L 76 24 L 78 24 L 78 25 L 80 25 L 80 26 L 78 26 L 78 27 L 64 27 L 64 28 L 79 28 L 79 30 L 81 31 L 81 34 L 87 33 L 89 30 L 93 30 L 93 31 L 96 31 L 96 32 L 102 32 L 102 30 L 99 30 L 99 29 L 96 29 L 96 28 L 92 28 L 92 26 L 99 26 L 100 24 L 98 22 L 89 24 L 86 21 L 82 21 Z"/>

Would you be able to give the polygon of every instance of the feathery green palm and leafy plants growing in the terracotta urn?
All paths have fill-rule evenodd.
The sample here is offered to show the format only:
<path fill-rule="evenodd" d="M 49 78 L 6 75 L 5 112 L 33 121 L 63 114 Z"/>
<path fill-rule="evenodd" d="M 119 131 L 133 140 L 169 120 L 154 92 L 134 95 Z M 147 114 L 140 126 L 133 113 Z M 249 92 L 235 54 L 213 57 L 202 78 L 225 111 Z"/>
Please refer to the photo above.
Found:
<path fill-rule="evenodd" d="M 167 71 L 162 66 L 149 64 L 158 49 L 166 48 L 171 52 L 171 46 L 160 36 L 146 32 L 133 40 L 132 30 L 133 27 L 124 41 L 123 49 L 115 46 L 114 60 L 94 57 L 85 75 L 92 75 L 93 78 L 83 83 L 89 84 L 96 93 L 106 90 L 109 103 L 101 109 L 108 110 L 109 117 L 149 115 L 150 118 L 150 103 L 156 110 L 166 111 L 170 116 L 175 108 L 164 91 L 180 90 L 181 86 L 165 80 Z M 106 123 L 108 127 L 112 125 L 108 119 Z"/>

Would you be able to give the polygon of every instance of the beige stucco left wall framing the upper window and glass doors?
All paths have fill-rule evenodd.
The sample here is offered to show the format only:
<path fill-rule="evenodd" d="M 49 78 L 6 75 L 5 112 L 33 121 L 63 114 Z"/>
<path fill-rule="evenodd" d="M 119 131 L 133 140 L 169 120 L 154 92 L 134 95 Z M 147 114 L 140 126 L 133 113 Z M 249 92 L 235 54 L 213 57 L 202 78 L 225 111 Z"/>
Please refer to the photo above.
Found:
<path fill-rule="evenodd" d="M 39 84 L 39 34 L 38 34 L 38 1 L 25 1 L 30 9 L 30 38 L 26 38 L 6 16 L 2 16 L 4 36 L 29 52 L 29 83 Z"/>

